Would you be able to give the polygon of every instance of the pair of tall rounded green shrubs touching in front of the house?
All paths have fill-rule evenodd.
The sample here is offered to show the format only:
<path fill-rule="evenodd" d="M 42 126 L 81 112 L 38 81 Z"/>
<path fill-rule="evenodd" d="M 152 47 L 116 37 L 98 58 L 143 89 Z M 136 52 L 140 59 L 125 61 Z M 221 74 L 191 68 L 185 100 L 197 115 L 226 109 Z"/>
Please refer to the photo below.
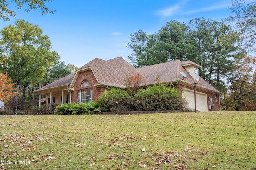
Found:
<path fill-rule="evenodd" d="M 164 84 L 140 89 L 134 95 L 127 90 L 110 89 L 97 101 L 102 111 L 182 110 L 186 106 L 178 90 Z"/>

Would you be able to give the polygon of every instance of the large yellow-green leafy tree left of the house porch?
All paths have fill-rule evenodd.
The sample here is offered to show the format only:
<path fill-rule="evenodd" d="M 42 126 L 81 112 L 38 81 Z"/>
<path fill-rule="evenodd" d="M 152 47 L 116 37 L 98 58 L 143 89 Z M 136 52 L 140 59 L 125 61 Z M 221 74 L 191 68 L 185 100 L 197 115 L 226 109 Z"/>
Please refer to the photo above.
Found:
<path fill-rule="evenodd" d="M 17 20 L 15 25 L 4 27 L 0 31 L 0 71 L 8 72 L 12 82 L 16 83 L 17 93 L 22 92 L 22 111 L 24 111 L 26 86 L 42 80 L 46 70 L 58 61 L 58 53 L 50 51 L 48 35 L 43 35 L 37 25 Z M 18 96 L 15 97 L 15 110 L 18 111 Z"/>

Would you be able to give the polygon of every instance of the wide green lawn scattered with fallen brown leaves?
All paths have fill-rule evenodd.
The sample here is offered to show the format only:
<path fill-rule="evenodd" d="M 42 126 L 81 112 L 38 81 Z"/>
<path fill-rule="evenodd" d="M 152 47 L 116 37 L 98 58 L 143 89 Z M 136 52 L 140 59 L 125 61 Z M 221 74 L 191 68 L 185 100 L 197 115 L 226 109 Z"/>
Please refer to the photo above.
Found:
<path fill-rule="evenodd" d="M 0 170 L 256 170 L 255 111 L 0 119 Z"/>

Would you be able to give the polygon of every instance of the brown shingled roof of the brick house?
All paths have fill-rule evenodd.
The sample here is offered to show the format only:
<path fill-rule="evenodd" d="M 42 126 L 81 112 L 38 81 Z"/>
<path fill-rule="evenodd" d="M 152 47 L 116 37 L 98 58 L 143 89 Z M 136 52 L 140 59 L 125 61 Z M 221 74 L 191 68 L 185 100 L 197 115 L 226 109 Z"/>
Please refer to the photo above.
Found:
<path fill-rule="evenodd" d="M 79 71 L 84 69 L 91 69 L 94 72 L 99 84 L 109 85 L 109 86 L 117 86 L 123 87 L 122 80 L 124 80 L 125 76 L 128 73 L 136 73 L 140 72 L 143 76 L 146 77 L 147 85 L 154 84 L 154 78 L 156 78 L 157 74 L 160 76 L 161 82 L 175 82 L 182 81 L 184 83 L 193 83 L 195 80 L 192 78 L 190 74 L 183 67 L 184 65 L 195 64 L 192 61 L 171 61 L 167 63 L 155 64 L 151 66 L 146 66 L 142 68 L 135 68 L 127 61 L 125 61 L 122 57 L 117 57 L 110 60 L 102 60 L 102 59 L 94 59 L 89 63 L 85 64 L 81 68 L 77 70 L 76 73 L 72 73 L 64 78 L 61 78 L 51 84 L 48 84 L 34 92 L 39 92 L 44 89 L 54 88 L 58 86 L 70 85 L 73 81 L 75 81 L 76 74 L 79 74 Z M 199 65 L 198 65 L 199 66 Z M 185 72 L 188 76 L 182 80 L 183 76 L 180 72 Z M 209 89 L 214 92 L 219 92 L 214 87 L 212 87 L 208 82 L 206 82 L 203 78 L 199 77 L 199 81 L 196 81 L 199 87 Z"/>

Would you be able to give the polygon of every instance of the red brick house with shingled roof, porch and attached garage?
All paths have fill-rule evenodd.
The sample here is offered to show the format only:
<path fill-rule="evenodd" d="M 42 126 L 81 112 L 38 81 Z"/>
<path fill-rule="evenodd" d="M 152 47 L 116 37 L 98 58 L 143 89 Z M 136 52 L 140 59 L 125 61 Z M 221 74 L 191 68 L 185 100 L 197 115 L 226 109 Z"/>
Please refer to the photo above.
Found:
<path fill-rule="evenodd" d="M 159 75 L 162 83 L 171 82 L 188 101 L 188 107 L 194 109 L 194 87 L 196 86 L 196 108 L 199 111 L 220 110 L 222 94 L 198 75 L 200 65 L 192 61 L 170 61 L 142 68 L 135 68 L 122 57 L 110 60 L 94 59 L 76 72 L 48 84 L 34 92 L 45 94 L 46 103 L 94 102 L 108 88 L 125 88 L 122 81 L 127 74 L 140 72 L 146 77 L 147 86 L 155 84 Z M 184 74 L 185 73 L 185 74 Z M 183 75 L 182 75 L 183 74 Z"/>

